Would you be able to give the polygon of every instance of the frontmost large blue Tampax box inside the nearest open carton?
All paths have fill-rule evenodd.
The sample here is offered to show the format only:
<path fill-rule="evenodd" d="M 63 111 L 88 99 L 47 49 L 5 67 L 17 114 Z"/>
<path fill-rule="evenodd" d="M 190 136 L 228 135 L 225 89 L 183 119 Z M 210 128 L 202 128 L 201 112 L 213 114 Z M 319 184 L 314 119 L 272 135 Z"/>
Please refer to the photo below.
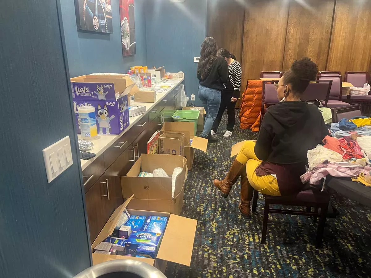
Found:
<path fill-rule="evenodd" d="M 131 234 L 125 244 L 125 254 L 131 254 L 132 257 L 156 258 L 161 239 L 161 233 L 137 232 Z"/>

